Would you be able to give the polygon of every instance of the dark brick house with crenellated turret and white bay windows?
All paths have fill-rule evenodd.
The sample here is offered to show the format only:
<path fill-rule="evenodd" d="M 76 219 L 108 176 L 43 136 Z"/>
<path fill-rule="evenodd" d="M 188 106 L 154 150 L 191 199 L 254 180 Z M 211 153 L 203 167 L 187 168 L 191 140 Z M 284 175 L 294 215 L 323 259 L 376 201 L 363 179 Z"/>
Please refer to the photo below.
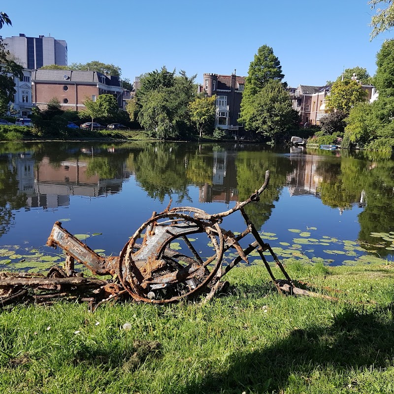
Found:
<path fill-rule="evenodd" d="M 228 130 L 237 134 L 243 124 L 238 122 L 241 112 L 242 93 L 245 77 L 205 73 L 204 83 L 199 85 L 199 93 L 205 92 L 208 97 L 216 95 L 215 128 Z"/>

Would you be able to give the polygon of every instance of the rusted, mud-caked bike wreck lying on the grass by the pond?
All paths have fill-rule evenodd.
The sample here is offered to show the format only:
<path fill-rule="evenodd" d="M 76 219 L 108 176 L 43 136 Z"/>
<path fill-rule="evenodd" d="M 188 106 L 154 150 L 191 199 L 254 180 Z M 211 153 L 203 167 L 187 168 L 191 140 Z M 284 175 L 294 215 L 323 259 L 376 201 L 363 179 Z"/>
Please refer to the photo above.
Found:
<path fill-rule="evenodd" d="M 168 206 L 135 231 L 119 257 L 104 258 L 76 239 L 56 222 L 48 238 L 47 246 L 62 248 L 66 253 L 64 268 L 54 267 L 47 276 L 42 274 L 0 273 L 0 304 L 21 300 L 48 301 L 54 297 L 79 297 L 89 301 L 92 309 L 100 303 L 119 296 L 131 296 L 135 301 L 164 304 L 182 298 L 207 294 L 211 298 L 223 286 L 220 280 L 240 261 L 248 262 L 247 255 L 257 249 L 268 273 L 279 291 L 291 294 L 312 295 L 301 290 L 287 274 L 271 247 L 263 242 L 258 230 L 249 220 L 244 207 L 259 201 L 259 196 L 269 182 L 269 171 L 265 173 L 263 186 L 246 201 L 237 202 L 228 211 L 210 215 L 193 207 Z M 240 211 L 247 228 L 239 235 L 220 227 L 223 218 Z M 200 256 L 193 246 L 191 236 L 205 234 L 210 241 L 213 254 Z M 239 241 L 252 234 L 255 241 L 243 249 Z M 142 243 L 138 240 L 142 238 Z M 177 249 L 171 249 L 176 242 Z M 234 250 L 238 256 L 224 264 L 227 251 Z M 275 279 L 263 252 L 269 251 L 281 269 L 285 279 Z M 95 275 L 110 275 L 111 279 L 100 280 L 84 277 L 74 270 L 74 261 L 83 263 Z M 29 289 L 33 289 L 33 294 Z"/>

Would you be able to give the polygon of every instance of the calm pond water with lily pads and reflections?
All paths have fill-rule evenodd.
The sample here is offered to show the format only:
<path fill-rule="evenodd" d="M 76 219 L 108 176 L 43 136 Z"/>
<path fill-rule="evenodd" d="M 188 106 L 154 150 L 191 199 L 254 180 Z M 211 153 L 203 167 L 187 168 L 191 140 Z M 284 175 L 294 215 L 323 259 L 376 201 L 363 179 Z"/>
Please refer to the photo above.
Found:
<path fill-rule="evenodd" d="M 55 221 L 100 253 L 119 255 L 170 199 L 171 207 L 225 211 L 259 189 L 267 169 L 269 187 L 246 211 L 280 259 L 393 260 L 390 155 L 256 144 L 3 143 L 0 269 L 61 262 L 61 251 L 44 246 Z M 222 227 L 242 231 L 245 223 L 236 212 Z M 196 249 L 206 253 L 207 243 L 197 237 Z"/>

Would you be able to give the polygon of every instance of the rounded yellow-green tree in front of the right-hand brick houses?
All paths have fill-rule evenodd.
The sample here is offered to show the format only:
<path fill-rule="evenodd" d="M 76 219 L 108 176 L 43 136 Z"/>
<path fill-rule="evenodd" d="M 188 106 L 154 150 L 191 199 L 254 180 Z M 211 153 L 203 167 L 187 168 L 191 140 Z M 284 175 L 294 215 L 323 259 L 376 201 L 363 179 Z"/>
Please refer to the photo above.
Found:
<path fill-rule="evenodd" d="M 326 108 L 349 114 L 350 109 L 366 97 L 367 93 L 362 90 L 357 81 L 336 81 L 332 84 L 330 94 L 326 96 Z"/>

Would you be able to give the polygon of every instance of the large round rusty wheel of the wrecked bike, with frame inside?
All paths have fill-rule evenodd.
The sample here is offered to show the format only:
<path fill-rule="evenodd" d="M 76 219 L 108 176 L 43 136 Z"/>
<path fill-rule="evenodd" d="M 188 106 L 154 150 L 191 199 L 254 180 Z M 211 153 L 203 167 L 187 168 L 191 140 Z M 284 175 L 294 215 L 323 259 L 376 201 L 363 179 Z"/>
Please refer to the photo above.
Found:
<path fill-rule="evenodd" d="M 221 268 L 224 237 L 218 222 L 202 220 L 199 215 L 206 213 L 193 207 L 154 213 L 133 234 L 120 254 L 118 276 L 135 300 L 175 302 L 208 289 Z M 205 233 L 213 245 L 214 254 L 209 258 L 201 258 L 188 238 L 198 233 Z M 184 247 L 172 250 L 172 242 Z"/>

